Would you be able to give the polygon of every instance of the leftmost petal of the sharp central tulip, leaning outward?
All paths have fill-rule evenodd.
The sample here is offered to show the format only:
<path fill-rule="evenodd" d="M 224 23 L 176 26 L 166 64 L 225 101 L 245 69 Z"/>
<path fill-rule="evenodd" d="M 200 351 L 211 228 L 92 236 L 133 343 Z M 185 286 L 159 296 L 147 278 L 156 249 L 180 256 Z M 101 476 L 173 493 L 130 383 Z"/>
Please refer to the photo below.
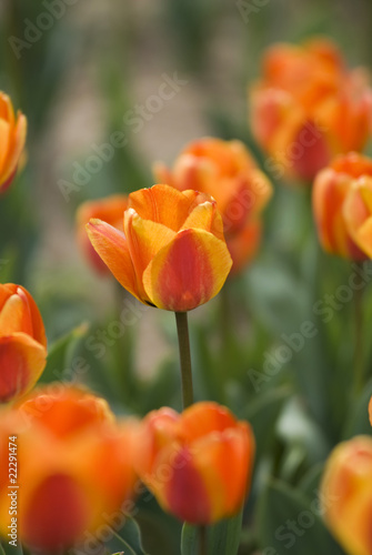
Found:
<path fill-rule="evenodd" d="M 87 224 L 89 239 L 119 283 L 142 302 L 125 235 L 101 220 Z"/>

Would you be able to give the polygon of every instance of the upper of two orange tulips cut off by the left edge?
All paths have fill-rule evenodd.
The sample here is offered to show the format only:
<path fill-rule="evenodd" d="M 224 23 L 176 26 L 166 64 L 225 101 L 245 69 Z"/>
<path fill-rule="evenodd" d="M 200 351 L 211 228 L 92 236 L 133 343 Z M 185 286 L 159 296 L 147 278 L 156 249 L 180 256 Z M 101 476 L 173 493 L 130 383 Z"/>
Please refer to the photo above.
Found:
<path fill-rule="evenodd" d="M 0 91 L 0 191 L 12 182 L 23 152 L 27 119 L 18 112 L 17 118 L 11 100 Z"/>

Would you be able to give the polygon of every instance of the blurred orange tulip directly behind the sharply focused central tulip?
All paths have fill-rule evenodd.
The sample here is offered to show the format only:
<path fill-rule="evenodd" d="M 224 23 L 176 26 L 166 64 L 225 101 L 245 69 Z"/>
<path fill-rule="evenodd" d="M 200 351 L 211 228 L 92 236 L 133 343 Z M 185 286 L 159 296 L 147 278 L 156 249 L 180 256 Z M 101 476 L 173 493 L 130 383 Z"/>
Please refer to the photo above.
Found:
<path fill-rule="evenodd" d="M 159 182 L 179 191 L 193 189 L 215 199 L 237 273 L 254 256 L 261 240 L 260 214 L 272 186 L 240 141 L 204 138 L 180 153 L 172 171 L 154 165 Z"/>

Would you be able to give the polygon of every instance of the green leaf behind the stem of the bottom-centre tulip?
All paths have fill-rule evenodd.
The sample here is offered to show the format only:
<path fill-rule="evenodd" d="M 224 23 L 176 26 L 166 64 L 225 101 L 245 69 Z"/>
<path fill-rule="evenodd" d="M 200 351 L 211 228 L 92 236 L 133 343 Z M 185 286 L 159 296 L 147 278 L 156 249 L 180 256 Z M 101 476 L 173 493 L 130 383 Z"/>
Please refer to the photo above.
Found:
<path fill-rule="evenodd" d="M 237 555 L 242 527 L 242 511 L 232 518 L 208 527 L 207 555 Z M 184 524 L 182 528 L 181 555 L 199 553 L 200 527 Z"/>

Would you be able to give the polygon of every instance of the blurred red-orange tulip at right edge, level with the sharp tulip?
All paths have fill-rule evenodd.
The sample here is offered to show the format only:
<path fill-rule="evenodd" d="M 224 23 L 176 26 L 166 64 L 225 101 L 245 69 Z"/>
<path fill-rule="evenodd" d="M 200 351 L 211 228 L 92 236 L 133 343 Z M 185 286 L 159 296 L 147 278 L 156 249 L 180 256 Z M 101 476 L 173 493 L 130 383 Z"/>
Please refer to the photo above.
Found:
<path fill-rule="evenodd" d="M 315 178 L 313 211 L 320 242 L 330 253 L 351 260 L 365 260 L 361 250 L 368 241 L 365 226 L 368 204 L 362 201 L 360 185 L 372 176 L 372 161 L 351 152 L 336 158 Z"/>

